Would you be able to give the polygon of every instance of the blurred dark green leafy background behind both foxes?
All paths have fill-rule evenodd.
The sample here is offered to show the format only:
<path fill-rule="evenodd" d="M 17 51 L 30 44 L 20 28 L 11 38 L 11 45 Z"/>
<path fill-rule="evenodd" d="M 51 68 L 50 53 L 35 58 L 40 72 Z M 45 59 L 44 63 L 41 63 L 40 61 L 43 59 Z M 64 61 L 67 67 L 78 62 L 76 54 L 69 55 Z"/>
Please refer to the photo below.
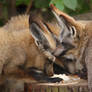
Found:
<path fill-rule="evenodd" d="M 28 13 L 38 8 L 48 9 L 50 4 L 54 4 L 70 15 L 92 10 L 92 0 L 0 0 L 0 26 L 12 16 Z"/>

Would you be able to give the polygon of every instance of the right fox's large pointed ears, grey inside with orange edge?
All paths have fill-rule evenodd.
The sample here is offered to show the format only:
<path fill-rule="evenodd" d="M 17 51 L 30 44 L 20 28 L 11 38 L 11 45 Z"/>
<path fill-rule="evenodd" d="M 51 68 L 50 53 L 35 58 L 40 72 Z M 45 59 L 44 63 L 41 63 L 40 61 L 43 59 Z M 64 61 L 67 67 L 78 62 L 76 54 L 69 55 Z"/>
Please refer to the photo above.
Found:
<path fill-rule="evenodd" d="M 58 10 L 58 13 L 56 9 L 57 8 L 54 7 L 54 10 L 52 10 L 52 12 L 56 17 L 59 26 L 61 27 L 58 40 L 64 47 L 65 51 L 76 48 L 78 45 L 77 43 L 80 40 L 80 26 L 75 26 L 74 23 L 71 23 L 72 21 L 75 21 L 72 17 L 68 16 L 65 13 L 59 14 L 61 13 L 61 11 Z"/>

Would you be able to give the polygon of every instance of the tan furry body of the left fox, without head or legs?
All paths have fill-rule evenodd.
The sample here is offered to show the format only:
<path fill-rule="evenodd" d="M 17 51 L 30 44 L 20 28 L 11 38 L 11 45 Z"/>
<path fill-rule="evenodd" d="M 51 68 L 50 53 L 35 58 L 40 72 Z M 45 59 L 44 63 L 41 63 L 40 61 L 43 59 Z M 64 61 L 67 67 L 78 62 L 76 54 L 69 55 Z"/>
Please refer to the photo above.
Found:
<path fill-rule="evenodd" d="M 15 24 L 16 23 L 15 21 L 18 21 L 22 18 L 24 19 L 26 18 L 25 19 L 26 21 L 22 23 L 24 24 L 27 23 L 25 25 L 25 28 L 23 29 L 17 27 L 19 26 L 18 23 Z M 1 37 L 1 41 L 0 41 L 0 48 L 1 48 L 0 50 L 0 53 L 1 53 L 0 71 L 1 72 L 0 73 L 2 73 L 2 71 L 4 71 L 4 73 L 12 72 L 13 69 L 15 70 L 18 65 L 25 65 L 26 64 L 25 61 L 26 59 L 29 59 L 29 55 L 32 56 L 33 54 L 36 56 L 36 53 L 33 48 L 36 48 L 35 50 L 37 51 L 37 47 L 35 46 L 35 44 L 32 44 L 34 40 L 31 37 L 29 28 L 28 28 L 28 16 L 23 16 L 23 17 L 20 16 L 16 19 L 12 19 L 12 22 L 10 23 L 6 24 L 3 28 L 0 29 L 0 37 Z M 24 25 L 20 25 L 20 26 L 24 27 Z M 33 59 L 35 58 L 33 57 Z M 36 62 L 33 64 L 35 65 Z"/>

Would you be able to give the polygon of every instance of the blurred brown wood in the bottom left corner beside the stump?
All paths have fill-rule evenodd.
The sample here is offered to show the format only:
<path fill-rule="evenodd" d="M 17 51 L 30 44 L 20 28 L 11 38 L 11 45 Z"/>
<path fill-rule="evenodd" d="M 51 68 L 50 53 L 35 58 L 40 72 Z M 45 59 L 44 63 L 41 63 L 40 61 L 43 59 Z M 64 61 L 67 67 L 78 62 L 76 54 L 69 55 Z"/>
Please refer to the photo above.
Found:
<path fill-rule="evenodd" d="M 0 92 L 24 92 L 24 81 L 9 79 L 0 84 Z"/>

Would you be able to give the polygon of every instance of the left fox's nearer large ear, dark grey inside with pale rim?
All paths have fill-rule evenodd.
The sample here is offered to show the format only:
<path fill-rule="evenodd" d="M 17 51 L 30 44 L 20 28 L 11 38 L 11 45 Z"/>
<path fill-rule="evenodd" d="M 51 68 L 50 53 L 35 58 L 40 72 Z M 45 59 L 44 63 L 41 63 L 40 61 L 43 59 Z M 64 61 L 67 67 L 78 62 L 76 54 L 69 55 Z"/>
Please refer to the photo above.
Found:
<path fill-rule="evenodd" d="M 36 17 L 30 15 L 29 17 L 29 29 L 32 37 L 34 38 L 36 45 L 39 48 L 47 49 L 49 47 L 49 42 L 45 37 L 43 30 L 40 28 L 38 23 L 36 23 Z"/>

